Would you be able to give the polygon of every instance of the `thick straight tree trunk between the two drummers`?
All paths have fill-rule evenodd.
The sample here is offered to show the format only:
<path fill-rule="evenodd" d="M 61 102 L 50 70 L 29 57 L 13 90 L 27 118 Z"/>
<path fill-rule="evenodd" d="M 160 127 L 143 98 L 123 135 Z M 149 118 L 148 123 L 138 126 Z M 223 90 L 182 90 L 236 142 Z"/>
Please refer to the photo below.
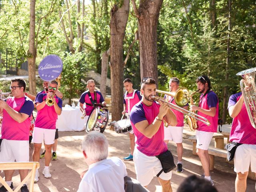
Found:
<path fill-rule="evenodd" d="M 123 110 L 123 42 L 128 21 L 130 0 L 124 0 L 122 7 L 114 5 L 110 12 L 110 74 L 112 121 L 120 120 Z"/>

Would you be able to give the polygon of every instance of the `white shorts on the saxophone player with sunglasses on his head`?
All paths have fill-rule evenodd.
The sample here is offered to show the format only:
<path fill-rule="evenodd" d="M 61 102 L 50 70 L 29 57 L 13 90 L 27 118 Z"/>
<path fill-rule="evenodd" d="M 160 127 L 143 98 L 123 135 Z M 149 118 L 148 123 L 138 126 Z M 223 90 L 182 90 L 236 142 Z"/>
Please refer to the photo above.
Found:
<path fill-rule="evenodd" d="M 196 130 L 196 148 L 208 150 L 214 132 Z"/>

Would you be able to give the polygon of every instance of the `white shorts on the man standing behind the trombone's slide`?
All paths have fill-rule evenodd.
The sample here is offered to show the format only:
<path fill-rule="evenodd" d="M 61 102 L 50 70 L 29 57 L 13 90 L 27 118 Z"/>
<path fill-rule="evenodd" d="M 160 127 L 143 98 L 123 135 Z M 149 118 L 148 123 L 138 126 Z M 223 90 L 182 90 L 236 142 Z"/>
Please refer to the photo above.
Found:
<path fill-rule="evenodd" d="M 164 126 L 164 140 L 173 140 L 175 143 L 182 143 L 184 127 Z"/>

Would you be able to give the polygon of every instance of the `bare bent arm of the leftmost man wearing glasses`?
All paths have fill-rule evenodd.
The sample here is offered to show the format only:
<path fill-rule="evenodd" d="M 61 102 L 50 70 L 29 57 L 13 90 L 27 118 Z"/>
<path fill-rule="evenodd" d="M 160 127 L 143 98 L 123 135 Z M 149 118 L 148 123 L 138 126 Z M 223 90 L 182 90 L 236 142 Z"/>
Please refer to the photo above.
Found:
<path fill-rule="evenodd" d="M 0 108 L 3 108 L 4 110 L 6 110 L 6 112 L 11 116 L 11 118 L 13 118 L 18 123 L 24 122 L 24 120 L 26 120 L 29 117 L 28 114 L 19 113 L 15 111 L 3 100 L 0 100 Z"/>

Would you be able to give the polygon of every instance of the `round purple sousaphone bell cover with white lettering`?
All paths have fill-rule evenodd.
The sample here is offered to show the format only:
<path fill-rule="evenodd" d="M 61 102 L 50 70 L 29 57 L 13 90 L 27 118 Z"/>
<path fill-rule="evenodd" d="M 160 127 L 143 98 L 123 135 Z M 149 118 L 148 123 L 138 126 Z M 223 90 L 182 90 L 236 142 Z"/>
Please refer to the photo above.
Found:
<path fill-rule="evenodd" d="M 62 72 L 63 63 L 58 55 L 48 55 L 40 62 L 38 74 L 44 81 L 55 80 Z"/>

